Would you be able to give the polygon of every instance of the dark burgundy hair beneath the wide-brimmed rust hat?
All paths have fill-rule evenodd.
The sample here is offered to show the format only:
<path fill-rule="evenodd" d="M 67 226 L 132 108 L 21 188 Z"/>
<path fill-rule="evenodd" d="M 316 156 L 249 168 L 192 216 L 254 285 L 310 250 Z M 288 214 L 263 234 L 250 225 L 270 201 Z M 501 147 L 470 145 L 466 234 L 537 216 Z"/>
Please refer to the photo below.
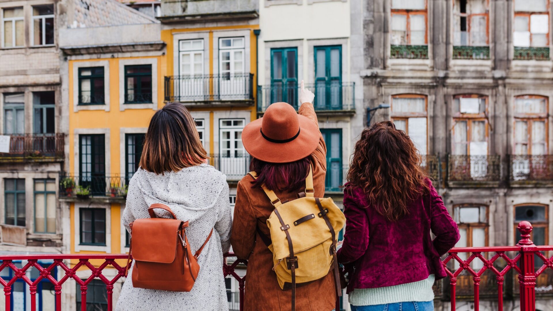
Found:
<path fill-rule="evenodd" d="M 257 173 L 252 188 L 265 185 L 269 190 L 295 191 L 305 188 L 305 178 L 309 174 L 309 158 L 290 163 L 269 163 L 252 158 L 249 170 Z"/>

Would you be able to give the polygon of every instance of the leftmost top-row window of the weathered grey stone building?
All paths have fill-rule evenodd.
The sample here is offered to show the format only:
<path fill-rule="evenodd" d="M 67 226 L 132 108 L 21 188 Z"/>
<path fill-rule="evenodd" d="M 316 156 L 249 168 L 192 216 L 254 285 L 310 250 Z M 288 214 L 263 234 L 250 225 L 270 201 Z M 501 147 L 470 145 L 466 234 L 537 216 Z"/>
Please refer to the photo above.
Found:
<path fill-rule="evenodd" d="M 426 39 L 426 1 L 392 0 L 392 45 L 424 45 Z"/>

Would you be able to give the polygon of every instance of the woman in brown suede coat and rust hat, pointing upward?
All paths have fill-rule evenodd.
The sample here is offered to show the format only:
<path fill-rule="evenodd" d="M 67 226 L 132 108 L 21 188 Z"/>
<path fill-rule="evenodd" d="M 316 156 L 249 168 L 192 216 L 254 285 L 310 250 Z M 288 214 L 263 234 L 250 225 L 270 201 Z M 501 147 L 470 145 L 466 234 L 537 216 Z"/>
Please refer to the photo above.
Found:
<path fill-rule="evenodd" d="M 312 105 L 315 95 L 303 87 L 299 114 L 288 103 L 270 105 L 264 117 L 249 123 L 242 142 L 252 155 L 250 169 L 238 182 L 231 245 L 238 258 L 248 260 L 244 311 L 287 311 L 291 290 L 282 290 L 273 271 L 273 254 L 262 239 L 274 206 L 261 188 L 273 190 L 284 203 L 304 191 L 309 166 L 313 167 L 315 197 L 325 193 L 326 146 Z M 261 231 L 263 236 L 259 234 Z M 332 271 L 317 281 L 296 288 L 296 310 L 328 311 L 335 307 Z"/>

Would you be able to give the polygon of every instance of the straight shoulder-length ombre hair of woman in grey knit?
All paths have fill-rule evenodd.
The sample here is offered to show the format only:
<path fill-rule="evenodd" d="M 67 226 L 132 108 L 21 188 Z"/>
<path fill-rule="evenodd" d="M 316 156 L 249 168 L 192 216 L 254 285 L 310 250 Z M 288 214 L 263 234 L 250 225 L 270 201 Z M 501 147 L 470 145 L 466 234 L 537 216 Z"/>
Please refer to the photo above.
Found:
<path fill-rule="evenodd" d="M 156 174 L 178 172 L 208 159 L 190 112 L 170 102 L 154 113 L 144 139 L 140 167 Z"/>

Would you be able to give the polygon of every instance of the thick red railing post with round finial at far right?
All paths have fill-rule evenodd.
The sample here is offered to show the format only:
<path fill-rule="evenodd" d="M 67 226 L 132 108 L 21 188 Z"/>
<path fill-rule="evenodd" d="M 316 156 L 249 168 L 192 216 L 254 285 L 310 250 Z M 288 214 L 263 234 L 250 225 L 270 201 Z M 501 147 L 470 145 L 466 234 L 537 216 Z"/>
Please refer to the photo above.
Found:
<path fill-rule="evenodd" d="M 530 240 L 532 225 L 528 221 L 521 221 L 518 225 L 520 231 L 520 311 L 536 310 L 536 272 L 534 269 L 534 253 L 536 246 Z"/>

